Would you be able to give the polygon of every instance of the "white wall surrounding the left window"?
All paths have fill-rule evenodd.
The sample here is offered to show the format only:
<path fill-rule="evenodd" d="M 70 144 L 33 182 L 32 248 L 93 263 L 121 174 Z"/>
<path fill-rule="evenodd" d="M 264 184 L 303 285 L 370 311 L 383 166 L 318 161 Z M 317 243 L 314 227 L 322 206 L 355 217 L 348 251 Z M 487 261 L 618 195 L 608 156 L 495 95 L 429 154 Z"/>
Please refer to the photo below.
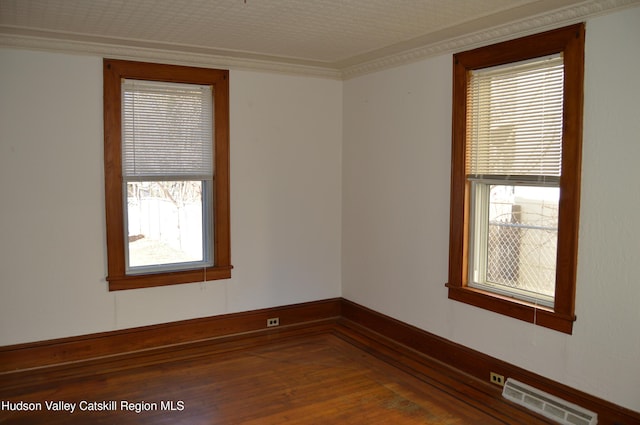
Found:
<path fill-rule="evenodd" d="M 230 82 L 233 278 L 108 292 L 102 59 L 0 49 L 0 345 L 340 296 L 342 84 Z"/>

